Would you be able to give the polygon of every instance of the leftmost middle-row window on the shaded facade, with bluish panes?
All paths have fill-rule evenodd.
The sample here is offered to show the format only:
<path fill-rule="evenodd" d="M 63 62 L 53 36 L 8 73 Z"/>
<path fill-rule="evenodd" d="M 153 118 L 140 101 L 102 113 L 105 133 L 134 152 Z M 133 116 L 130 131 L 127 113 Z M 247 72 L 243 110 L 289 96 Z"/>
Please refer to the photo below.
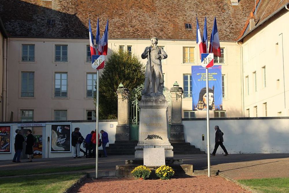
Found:
<path fill-rule="evenodd" d="M 21 97 L 34 97 L 34 72 L 21 72 Z"/>

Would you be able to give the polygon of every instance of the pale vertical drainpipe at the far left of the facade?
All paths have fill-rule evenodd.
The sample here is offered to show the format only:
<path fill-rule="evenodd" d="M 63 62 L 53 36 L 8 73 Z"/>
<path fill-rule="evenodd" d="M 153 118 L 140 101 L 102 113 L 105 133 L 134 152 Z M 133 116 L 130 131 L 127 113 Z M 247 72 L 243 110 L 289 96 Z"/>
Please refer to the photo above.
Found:
<path fill-rule="evenodd" d="M 3 97 L 2 97 L 2 121 L 7 121 L 6 120 L 6 103 L 7 103 L 7 42 L 8 38 L 3 39 Z"/>

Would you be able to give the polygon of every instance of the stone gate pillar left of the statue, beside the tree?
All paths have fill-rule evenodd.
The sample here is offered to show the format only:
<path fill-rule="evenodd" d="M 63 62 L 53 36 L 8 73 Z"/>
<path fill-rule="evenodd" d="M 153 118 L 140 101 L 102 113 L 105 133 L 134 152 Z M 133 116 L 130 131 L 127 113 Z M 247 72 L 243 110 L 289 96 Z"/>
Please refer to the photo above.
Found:
<path fill-rule="evenodd" d="M 129 91 L 120 88 L 117 94 L 117 125 L 115 141 L 129 141 Z"/>

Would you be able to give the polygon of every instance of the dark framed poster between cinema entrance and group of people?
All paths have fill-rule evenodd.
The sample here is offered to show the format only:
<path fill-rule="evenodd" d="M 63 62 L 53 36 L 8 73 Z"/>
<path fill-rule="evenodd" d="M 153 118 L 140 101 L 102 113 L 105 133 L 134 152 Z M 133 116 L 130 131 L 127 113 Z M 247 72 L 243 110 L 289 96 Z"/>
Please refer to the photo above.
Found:
<path fill-rule="evenodd" d="M 71 125 L 51 125 L 50 152 L 71 152 Z"/>

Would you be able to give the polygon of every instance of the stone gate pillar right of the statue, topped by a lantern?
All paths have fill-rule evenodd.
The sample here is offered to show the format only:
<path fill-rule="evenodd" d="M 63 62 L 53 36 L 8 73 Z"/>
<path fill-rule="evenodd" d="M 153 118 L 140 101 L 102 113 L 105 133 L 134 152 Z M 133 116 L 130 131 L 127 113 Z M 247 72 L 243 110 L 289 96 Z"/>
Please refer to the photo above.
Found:
<path fill-rule="evenodd" d="M 182 124 L 182 94 L 183 89 L 179 87 L 172 87 L 172 117 L 171 117 L 171 133 L 170 142 L 185 142 L 184 125 Z"/>

